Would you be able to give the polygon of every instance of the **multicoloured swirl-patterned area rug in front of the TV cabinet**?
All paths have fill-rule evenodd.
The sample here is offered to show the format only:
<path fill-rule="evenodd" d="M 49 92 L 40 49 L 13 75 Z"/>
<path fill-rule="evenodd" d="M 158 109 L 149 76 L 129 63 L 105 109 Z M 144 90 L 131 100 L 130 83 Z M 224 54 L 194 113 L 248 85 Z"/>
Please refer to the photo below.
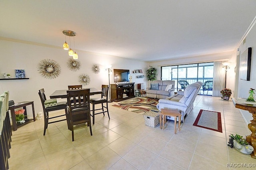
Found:
<path fill-rule="evenodd" d="M 150 110 L 158 111 L 158 109 L 156 108 L 157 104 L 158 104 L 158 99 L 152 99 L 149 97 L 136 97 L 112 106 L 118 107 L 120 109 L 124 109 L 127 111 L 143 114 Z"/>

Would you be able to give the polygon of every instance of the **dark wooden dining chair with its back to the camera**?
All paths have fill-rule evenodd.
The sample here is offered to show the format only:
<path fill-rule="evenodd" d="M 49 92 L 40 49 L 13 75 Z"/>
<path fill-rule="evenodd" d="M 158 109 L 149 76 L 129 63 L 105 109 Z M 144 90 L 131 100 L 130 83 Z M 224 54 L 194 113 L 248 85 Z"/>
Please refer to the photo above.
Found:
<path fill-rule="evenodd" d="M 87 123 L 92 136 L 90 117 L 90 89 L 68 90 L 68 124 L 74 141 L 74 125 Z M 72 101 L 76 100 L 76 103 Z"/>

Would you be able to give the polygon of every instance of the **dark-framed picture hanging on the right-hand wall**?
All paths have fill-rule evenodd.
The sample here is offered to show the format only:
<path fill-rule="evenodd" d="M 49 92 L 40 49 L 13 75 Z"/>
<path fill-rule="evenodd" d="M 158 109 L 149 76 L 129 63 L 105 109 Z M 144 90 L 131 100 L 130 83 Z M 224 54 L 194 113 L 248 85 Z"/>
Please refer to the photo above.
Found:
<path fill-rule="evenodd" d="M 252 47 L 246 49 L 240 57 L 240 79 L 250 81 Z"/>

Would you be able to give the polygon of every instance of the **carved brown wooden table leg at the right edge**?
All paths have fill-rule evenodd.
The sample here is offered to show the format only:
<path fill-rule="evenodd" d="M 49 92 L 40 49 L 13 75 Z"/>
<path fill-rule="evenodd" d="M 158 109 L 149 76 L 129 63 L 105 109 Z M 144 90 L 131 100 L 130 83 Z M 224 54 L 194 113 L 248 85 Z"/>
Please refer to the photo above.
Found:
<path fill-rule="evenodd" d="M 251 123 L 248 124 L 248 128 L 252 132 L 249 136 L 246 136 L 246 141 L 250 143 L 250 145 L 254 148 L 253 152 L 251 153 L 251 157 L 256 159 L 256 112 L 252 113 L 253 120 Z"/>

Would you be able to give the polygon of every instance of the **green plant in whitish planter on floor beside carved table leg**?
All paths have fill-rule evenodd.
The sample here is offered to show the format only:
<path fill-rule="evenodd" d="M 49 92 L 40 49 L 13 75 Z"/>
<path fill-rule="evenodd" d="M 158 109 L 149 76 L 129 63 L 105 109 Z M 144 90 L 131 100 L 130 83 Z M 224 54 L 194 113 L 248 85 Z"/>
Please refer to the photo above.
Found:
<path fill-rule="evenodd" d="M 229 142 L 228 146 L 230 148 L 235 147 L 236 150 L 243 154 L 251 154 L 254 148 L 249 145 L 249 143 L 246 141 L 243 136 L 240 136 L 239 134 L 236 134 L 235 136 L 233 134 L 229 135 Z"/>

